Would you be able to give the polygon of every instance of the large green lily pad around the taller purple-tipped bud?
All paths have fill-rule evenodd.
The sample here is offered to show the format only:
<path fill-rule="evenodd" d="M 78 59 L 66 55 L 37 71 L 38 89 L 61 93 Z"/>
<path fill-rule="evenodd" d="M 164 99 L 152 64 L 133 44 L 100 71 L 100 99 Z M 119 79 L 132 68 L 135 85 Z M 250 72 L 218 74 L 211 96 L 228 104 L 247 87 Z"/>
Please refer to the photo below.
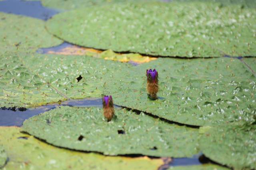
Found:
<path fill-rule="evenodd" d="M 158 71 L 158 100 L 148 99 L 146 69 Z M 106 82 L 114 104 L 187 125 L 254 122 L 256 75 L 240 60 L 158 58 Z M 250 80 L 250 81 L 249 81 Z"/>

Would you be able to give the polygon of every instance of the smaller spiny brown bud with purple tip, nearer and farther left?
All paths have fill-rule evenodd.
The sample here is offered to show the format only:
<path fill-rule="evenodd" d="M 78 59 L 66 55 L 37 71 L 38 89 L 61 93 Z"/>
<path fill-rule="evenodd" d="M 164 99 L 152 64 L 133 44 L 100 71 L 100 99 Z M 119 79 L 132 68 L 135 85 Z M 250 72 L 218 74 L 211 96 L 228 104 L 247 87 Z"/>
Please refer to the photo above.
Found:
<path fill-rule="evenodd" d="M 111 96 L 102 97 L 103 114 L 108 121 L 111 121 L 114 116 L 114 104 Z"/>

